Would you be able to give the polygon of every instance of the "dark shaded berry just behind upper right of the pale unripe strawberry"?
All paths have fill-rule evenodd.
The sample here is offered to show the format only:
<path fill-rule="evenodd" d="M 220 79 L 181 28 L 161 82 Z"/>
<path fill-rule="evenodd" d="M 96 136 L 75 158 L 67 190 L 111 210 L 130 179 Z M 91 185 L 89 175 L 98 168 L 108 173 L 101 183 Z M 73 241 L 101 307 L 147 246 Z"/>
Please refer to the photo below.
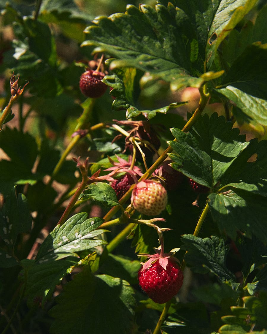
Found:
<path fill-rule="evenodd" d="M 183 174 L 173 169 L 169 163 L 171 160 L 166 160 L 155 170 L 155 174 L 165 179 L 166 190 L 175 190 L 183 181 Z"/>

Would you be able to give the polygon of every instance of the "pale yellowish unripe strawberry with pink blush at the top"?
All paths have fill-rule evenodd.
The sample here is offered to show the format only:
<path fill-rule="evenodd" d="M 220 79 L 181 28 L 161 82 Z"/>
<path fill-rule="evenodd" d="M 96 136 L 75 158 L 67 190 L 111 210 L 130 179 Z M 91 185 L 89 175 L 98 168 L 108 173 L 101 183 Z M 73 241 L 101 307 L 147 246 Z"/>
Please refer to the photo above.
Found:
<path fill-rule="evenodd" d="M 164 186 L 152 180 L 139 182 L 131 194 L 133 207 L 148 216 L 160 214 L 165 209 L 167 201 L 167 191 Z"/>

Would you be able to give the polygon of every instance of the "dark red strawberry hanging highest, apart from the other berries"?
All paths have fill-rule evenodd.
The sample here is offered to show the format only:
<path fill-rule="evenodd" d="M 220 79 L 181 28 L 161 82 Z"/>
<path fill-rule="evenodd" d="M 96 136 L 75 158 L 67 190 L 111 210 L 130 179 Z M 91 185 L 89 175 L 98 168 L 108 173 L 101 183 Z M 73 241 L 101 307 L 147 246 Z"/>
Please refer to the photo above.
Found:
<path fill-rule="evenodd" d="M 99 98 L 102 96 L 107 89 L 107 86 L 100 81 L 104 76 L 104 73 L 91 69 L 82 73 L 79 83 L 82 94 L 88 98 Z"/>

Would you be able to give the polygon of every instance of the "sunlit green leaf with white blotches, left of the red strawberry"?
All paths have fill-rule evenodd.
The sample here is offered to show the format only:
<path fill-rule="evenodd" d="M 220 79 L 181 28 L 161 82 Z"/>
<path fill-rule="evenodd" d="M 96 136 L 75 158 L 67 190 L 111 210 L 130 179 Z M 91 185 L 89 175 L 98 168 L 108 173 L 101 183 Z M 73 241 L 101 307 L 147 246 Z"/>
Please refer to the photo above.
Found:
<path fill-rule="evenodd" d="M 105 240 L 96 238 L 106 232 L 106 230 L 97 229 L 103 219 L 99 217 L 87 219 L 87 216 L 86 212 L 77 213 L 63 225 L 56 226 L 42 243 L 36 261 L 42 263 L 68 256 L 77 257 L 77 252 L 106 244 Z"/>

